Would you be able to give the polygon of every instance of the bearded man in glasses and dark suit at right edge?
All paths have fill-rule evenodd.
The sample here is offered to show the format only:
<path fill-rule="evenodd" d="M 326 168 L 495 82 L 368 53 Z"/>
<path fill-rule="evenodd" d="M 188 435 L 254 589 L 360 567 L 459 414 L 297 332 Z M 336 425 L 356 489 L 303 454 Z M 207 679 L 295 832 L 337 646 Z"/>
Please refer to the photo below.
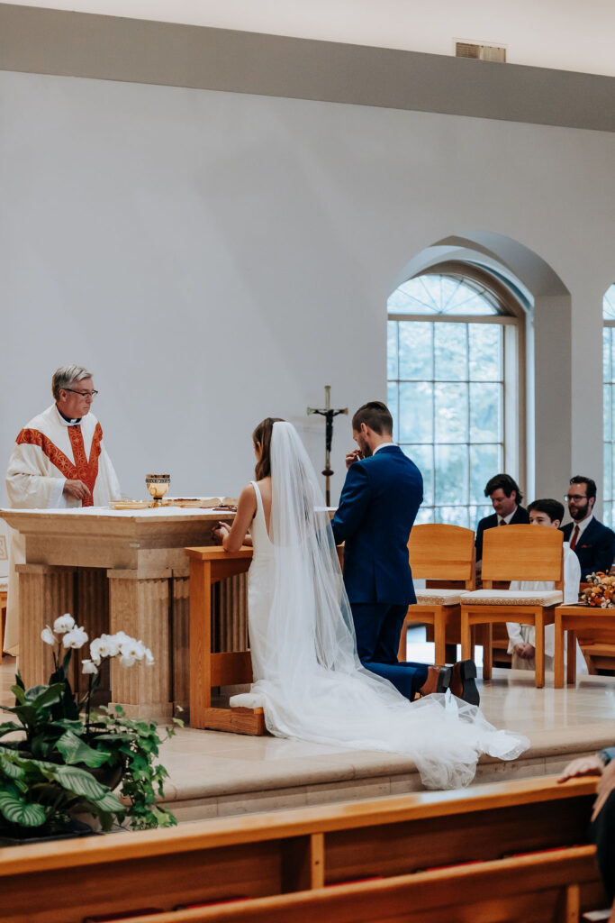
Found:
<path fill-rule="evenodd" d="M 608 574 L 615 557 L 615 533 L 594 516 L 596 493 L 591 477 L 575 474 L 565 497 L 573 521 L 562 526 L 563 540 L 579 558 L 581 580 L 598 570 Z"/>

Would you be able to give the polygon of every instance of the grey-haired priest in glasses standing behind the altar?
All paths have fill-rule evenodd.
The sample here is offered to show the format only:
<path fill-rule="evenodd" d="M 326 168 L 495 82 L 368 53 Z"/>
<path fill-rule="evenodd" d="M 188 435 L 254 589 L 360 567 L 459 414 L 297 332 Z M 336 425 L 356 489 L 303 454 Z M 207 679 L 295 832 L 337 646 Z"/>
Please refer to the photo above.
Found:
<path fill-rule="evenodd" d="M 92 374 L 62 366 L 52 379 L 53 404 L 20 431 L 8 462 L 6 491 L 13 509 L 101 507 L 119 499 L 120 485 L 94 414 Z M 25 561 L 22 536 L 11 534 L 5 651 L 18 653 L 16 565 Z"/>

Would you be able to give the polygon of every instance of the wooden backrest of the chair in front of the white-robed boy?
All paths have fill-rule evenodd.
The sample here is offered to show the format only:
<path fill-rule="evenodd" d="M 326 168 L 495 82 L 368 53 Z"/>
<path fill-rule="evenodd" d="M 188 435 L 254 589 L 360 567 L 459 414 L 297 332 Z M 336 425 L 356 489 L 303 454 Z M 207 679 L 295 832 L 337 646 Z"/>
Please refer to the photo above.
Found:
<path fill-rule="evenodd" d="M 563 534 L 545 526 L 507 525 L 487 529 L 482 543 L 482 583 L 554 581 L 563 589 Z"/>

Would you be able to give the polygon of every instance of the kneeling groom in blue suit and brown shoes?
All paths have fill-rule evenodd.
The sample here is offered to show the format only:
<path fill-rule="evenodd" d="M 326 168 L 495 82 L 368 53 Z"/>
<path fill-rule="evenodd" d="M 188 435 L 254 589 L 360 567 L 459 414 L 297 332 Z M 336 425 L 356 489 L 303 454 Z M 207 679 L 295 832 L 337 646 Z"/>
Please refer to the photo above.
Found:
<path fill-rule="evenodd" d="M 344 583 L 361 664 L 410 701 L 417 692 L 429 695 L 450 686 L 456 696 L 478 705 L 472 661 L 452 669 L 397 661 L 408 605 L 417 601 L 408 537 L 422 502 L 423 479 L 393 442 L 393 418 L 384 403 L 359 408 L 352 436 L 359 448 L 346 456 L 348 473 L 332 526 L 337 545 L 346 543 Z"/>

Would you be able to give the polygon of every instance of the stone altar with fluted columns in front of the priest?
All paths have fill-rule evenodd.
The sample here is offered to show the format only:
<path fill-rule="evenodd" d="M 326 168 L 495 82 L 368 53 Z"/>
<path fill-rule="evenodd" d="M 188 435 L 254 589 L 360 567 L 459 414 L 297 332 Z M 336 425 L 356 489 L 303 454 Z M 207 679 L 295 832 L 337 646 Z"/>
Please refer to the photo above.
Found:
<path fill-rule="evenodd" d="M 186 545 L 212 545 L 228 509 L 0 509 L 22 533 L 19 574 L 19 669 L 26 686 L 46 682 L 52 649 L 41 630 L 70 612 L 89 639 L 124 630 L 152 651 L 155 665 L 103 661 L 101 691 L 131 717 L 169 718 L 189 702 L 189 562 Z M 247 647 L 245 574 L 212 588 L 215 649 Z M 76 651 L 80 661 L 89 645 Z M 179 708 L 178 708 L 179 706 Z"/>

